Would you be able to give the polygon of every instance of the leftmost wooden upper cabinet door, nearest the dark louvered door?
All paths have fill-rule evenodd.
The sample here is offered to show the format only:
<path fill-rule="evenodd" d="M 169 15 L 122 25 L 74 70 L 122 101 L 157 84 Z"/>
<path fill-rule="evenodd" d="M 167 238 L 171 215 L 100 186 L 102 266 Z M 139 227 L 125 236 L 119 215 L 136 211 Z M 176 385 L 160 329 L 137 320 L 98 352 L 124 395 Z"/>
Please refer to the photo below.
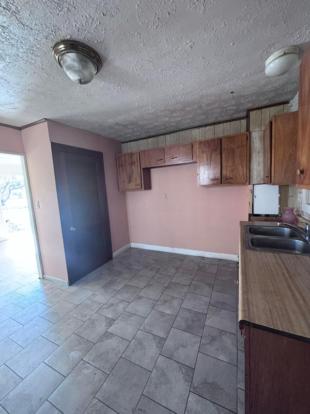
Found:
<path fill-rule="evenodd" d="M 120 191 L 142 189 L 139 152 L 116 155 L 116 164 Z"/>

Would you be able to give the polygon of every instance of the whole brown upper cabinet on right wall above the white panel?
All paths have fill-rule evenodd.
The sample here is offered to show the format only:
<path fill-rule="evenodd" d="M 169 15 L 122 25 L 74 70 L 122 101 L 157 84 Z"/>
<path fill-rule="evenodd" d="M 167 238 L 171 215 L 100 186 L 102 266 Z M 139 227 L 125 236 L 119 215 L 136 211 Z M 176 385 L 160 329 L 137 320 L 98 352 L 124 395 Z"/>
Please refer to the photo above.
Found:
<path fill-rule="evenodd" d="M 263 182 L 296 182 L 297 112 L 272 117 L 263 133 Z"/>

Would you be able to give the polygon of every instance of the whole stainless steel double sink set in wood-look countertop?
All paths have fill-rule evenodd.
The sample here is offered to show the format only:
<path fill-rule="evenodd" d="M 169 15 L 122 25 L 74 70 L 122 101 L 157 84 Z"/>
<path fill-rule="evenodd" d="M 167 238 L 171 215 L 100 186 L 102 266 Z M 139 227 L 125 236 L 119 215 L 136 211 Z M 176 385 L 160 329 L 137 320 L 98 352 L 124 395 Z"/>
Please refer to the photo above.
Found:
<path fill-rule="evenodd" d="M 310 244 L 303 238 L 302 229 L 248 225 L 245 232 L 249 250 L 310 255 Z"/>

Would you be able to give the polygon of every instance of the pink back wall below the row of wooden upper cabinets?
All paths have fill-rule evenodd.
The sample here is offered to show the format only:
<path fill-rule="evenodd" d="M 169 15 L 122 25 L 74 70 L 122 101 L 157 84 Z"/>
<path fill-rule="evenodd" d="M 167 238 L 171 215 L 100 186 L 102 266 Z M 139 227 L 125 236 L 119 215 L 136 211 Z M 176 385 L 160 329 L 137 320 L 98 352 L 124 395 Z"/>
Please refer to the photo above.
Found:
<path fill-rule="evenodd" d="M 152 190 L 127 192 L 132 243 L 238 254 L 247 185 L 198 187 L 197 164 L 154 168 L 151 180 Z"/>

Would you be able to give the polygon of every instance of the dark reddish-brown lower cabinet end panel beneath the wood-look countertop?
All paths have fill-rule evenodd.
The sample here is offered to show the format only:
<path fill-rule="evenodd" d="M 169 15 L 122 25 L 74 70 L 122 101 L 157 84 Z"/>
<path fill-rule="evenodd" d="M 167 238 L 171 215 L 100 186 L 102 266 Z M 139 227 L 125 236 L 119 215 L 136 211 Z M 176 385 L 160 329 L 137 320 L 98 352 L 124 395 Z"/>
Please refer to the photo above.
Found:
<path fill-rule="evenodd" d="M 310 343 L 241 325 L 245 414 L 310 413 Z"/>

